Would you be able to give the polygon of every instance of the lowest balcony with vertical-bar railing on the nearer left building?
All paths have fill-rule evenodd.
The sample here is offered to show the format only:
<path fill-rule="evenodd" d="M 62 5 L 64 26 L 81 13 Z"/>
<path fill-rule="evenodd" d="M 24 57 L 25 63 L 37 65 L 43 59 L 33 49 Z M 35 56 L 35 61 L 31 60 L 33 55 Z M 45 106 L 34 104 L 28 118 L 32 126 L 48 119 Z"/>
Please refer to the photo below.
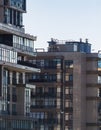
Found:
<path fill-rule="evenodd" d="M 0 130 L 33 130 L 33 127 L 31 118 L 17 115 L 0 116 Z"/>

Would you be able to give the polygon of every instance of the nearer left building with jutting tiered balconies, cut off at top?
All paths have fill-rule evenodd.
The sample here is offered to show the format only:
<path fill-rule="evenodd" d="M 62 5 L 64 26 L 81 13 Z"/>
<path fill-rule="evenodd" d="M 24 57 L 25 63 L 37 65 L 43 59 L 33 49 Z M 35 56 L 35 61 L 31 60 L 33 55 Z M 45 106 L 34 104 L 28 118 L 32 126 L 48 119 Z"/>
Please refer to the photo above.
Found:
<path fill-rule="evenodd" d="M 35 57 L 36 37 L 25 33 L 26 0 L 0 0 L 0 130 L 33 130 L 30 117 L 30 73 L 40 72 L 28 61 Z"/>

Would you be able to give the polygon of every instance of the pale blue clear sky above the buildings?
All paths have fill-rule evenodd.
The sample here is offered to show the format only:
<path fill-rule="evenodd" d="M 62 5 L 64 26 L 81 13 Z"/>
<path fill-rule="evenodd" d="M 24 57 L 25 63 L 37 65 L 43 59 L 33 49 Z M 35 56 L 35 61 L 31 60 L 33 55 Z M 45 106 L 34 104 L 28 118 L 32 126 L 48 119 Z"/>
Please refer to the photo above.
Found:
<path fill-rule="evenodd" d="M 27 0 L 26 33 L 37 36 L 35 48 L 47 50 L 51 38 L 85 41 L 101 49 L 101 0 Z"/>

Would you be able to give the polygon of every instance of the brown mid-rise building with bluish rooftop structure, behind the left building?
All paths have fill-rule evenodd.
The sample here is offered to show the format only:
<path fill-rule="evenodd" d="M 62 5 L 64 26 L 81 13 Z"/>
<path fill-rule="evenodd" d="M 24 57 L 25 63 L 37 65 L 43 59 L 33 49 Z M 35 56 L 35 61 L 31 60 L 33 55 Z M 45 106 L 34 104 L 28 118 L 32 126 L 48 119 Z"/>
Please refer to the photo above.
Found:
<path fill-rule="evenodd" d="M 87 39 L 48 43 L 30 59 L 41 69 L 29 80 L 35 130 L 101 130 L 101 53 Z"/>

